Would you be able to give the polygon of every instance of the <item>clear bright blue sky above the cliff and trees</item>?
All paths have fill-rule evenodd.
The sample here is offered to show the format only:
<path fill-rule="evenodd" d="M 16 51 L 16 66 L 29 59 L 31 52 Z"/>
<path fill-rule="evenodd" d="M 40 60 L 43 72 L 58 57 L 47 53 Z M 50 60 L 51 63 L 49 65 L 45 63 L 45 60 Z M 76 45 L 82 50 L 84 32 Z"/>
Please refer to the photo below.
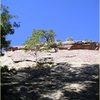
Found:
<path fill-rule="evenodd" d="M 33 29 L 52 29 L 56 40 L 99 41 L 99 0 L 2 0 L 20 27 L 7 36 L 11 45 L 22 45 Z"/>

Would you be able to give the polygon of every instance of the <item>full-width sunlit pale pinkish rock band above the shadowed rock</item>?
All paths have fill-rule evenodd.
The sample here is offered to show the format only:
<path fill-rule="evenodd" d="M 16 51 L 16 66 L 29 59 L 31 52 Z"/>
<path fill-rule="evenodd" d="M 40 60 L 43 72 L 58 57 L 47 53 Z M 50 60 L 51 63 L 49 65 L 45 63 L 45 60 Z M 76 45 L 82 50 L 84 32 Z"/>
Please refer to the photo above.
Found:
<path fill-rule="evenodd" d="M 81 64 L 99 64 L 100 51 L 98 50 L 58 50 L 38 51 L 37 56 L 34 51 L 16 50 L 6 51 L 0 57 L 0 65 L 7 65 L 9 68 L 33 67 L 39 63 L 69 63 L 72 66 Z"/>

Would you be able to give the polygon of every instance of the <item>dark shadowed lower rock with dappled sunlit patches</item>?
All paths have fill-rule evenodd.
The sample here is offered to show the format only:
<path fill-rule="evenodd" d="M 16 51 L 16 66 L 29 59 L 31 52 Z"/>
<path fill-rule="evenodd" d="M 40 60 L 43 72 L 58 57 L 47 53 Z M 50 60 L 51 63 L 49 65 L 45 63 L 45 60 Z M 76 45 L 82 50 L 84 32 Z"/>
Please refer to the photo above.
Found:
<path fill-rule="evenodd" d="M 99 65 L 2 71 L 2 100 L 99 100 Z M 9 94 L 9 95 L 8 95 Z"/>

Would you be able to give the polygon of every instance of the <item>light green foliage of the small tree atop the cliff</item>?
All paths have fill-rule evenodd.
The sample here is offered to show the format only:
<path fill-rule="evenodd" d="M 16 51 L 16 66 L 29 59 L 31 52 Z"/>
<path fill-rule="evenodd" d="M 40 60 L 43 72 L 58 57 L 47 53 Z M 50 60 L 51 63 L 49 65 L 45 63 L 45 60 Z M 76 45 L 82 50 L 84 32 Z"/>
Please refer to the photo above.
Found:
<path fill-rule="evenodd" d="M 28 48 L 33 48 L 36 45 L 50 45 L 54 43 L 55 32 L 53 30 L 35 29 L 32 35 L 24 42 Z"/>

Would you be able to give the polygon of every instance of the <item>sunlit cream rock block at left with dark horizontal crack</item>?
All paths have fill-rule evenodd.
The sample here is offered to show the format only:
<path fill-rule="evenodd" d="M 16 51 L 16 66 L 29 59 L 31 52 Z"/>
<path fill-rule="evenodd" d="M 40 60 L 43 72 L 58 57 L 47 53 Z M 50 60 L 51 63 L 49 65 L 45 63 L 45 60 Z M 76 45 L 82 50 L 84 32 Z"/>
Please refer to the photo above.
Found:
<path fill-rule="evenodd" d="M 34 52 L 25 52 L 24 50 L 8 51 L 0 58 L 1 65 L 9 68 L 32 67 L 35 64 L 36 58 Z"/>

